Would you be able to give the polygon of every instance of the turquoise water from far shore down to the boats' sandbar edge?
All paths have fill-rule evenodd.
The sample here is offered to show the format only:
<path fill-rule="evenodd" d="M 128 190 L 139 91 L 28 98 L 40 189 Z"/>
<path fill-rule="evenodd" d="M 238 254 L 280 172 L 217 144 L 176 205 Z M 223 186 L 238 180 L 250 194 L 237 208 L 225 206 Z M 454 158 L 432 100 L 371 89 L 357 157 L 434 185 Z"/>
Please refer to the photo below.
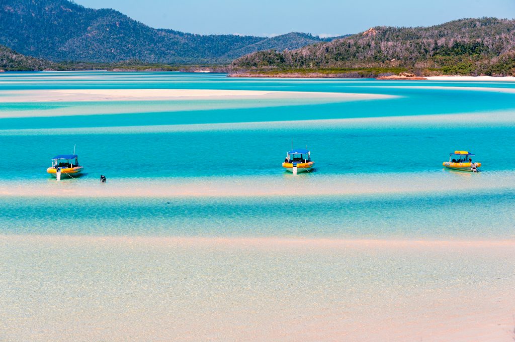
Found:
<path fill-rule="evenodd" d="M 450 90 L 445 90 L 446 86 Z M 456 86 L 473 90 L 456 90 Z M 514 90 L 515 86 L 510 83 L 259 80 L 231 79 L 219 74 L 102 72 L 18 73 L 0 78 L 1 90 L 42 88 L 245 89 L 386 94 L 396 98 L 321 104 L 317 104 L 316 99 L 312 100 L 315 103 L 307 104 L 304 99 L 287 99 L 282 100 L 281 105 L 277 103 L 281 100 L 268 103 L 255 99 L 234 100 L 232 104 L 228 104 L 231 100 L 0 103 L 0 111 L 4 113 L 15 109 L 31 115 L 34 111 L 51 111 L 58 107 L 61 108 L 59 115 L 67 111 L 70 114 L 0 119 L 0 137 L 4 147 L 0 179 L 44 179 L 49 158 L 71 153 L 74 144 L 77 144 L 81 164 L 95 177 L 100 173 L 129 178 L 280 176 L 282 172 L 278 166 L 290 148 L 292 138 L 295 146 L 307 145 L 312 150 L 317 169 L 324 174 L 435 171 L 441 169 L 442 161 L 448 160 L 449 152 L 454 149 L 476 153 L 476 160 L 482 161 L 486 170 L 511 170 L 515 163 L 515 147 L 508 143 L 513 135 L 513 124 L 506 122 L 515 122 L 515 94 L 477 90 Z M 220 106 L 227 105 L 237 108 L 220 109 Z M 198 110 L 199 106 L 204 109 Z M 123 114 L 124 107 L 130 107 L 130 114 Z M 121 111 L 121 114 L 104 114 L 112 109 Z M 81 111 L 88 115 L 72 115 Z M 485 124 L 477 120 L 473 124 L 467 120 L 446 124 L 448 117 L 431 127 L 416 121 L 402 127 L 373 120 L 358 127 L 338 124 L 319 127 L 320 122 L 326 119 L 413 118 L 471 113 L 479 113 L 485 118 Z M 494 124 L 496 118 L 500 124 Z M 300 120 L 308 121 L 296 124 Z M 311 127 L 309 120 L 317 121 L 313 121 Z M 244 130 L 237 126 L 196 132 L 174 132 L 170 129 L 205 123 L 273 121 L 281 123 Z M 74 131 L 74 128 L 110 127 L 126 129 L 96 132 L 94 135 Z M 155 128 L 156 132 L 145 132 L 145 127 Z M 167 127 L 169 131 L 159 132 L 159 127 Z M 59 129 L 66 131 L 60 134 Z M 13 134 L 13 130 L 21 131 Z M 16 164 L 22 166 L 16 167 L 18 172 L 12 172 Z"/>

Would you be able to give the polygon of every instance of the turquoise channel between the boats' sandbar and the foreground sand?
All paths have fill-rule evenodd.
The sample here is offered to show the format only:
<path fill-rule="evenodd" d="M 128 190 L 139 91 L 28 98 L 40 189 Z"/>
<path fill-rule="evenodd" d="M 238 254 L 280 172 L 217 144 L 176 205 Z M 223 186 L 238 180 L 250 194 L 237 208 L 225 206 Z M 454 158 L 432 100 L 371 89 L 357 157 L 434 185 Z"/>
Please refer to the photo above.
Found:
<path fill-rule="evenodd" d="M 505 190 L 485 191 L 478 200 L 473 192 L 258 201 L 14 198 L 0 200 L 0 226 L 6 233 L 50 235 L 515 239 L 514 195 Z"/>

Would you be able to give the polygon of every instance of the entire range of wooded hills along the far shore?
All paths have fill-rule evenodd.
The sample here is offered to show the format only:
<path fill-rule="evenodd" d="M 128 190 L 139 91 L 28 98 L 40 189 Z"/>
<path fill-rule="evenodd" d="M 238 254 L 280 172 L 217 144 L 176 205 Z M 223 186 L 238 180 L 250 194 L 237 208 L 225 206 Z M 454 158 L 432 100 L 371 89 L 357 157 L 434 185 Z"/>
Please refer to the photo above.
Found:
<path fill-rule="evenodd" d="M 0 15 L 0 69 L 5 71 L 209 71 L 230 77 L 384 80 L 515 75 L 515 20 L 492 17 L 431 27 L 376 26 L 320 38 L 300 32 L 253 37 L 155 29 L 115 10 L 68 0 L 5 0 Z"/>

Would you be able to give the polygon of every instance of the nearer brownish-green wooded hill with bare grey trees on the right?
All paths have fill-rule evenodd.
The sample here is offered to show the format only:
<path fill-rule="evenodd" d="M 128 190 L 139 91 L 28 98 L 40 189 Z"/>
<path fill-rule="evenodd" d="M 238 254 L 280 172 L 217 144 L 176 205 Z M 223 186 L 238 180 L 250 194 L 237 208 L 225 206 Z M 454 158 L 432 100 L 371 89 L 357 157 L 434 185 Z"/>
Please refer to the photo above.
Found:
<path fill-rule="evenodd" d="M 514 75 L 515 21 L 482 18 L 431 27 L 379 26 L 329 43 L 251 53 L 234 61 L 232 68 Z"/>

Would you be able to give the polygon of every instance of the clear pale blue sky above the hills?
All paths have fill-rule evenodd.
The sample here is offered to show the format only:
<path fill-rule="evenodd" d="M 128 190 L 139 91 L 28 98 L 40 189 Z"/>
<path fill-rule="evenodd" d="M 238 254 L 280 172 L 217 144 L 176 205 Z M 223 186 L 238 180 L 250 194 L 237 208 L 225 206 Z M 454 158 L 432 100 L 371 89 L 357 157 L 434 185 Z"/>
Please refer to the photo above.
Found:
<path fill-rule="evenodd" d="M 75 0 L 156 28 L 203 34 L 340 35 L 372 26 L 428 26 L 462 17 L 515 17 L 515 0 Z"/>

